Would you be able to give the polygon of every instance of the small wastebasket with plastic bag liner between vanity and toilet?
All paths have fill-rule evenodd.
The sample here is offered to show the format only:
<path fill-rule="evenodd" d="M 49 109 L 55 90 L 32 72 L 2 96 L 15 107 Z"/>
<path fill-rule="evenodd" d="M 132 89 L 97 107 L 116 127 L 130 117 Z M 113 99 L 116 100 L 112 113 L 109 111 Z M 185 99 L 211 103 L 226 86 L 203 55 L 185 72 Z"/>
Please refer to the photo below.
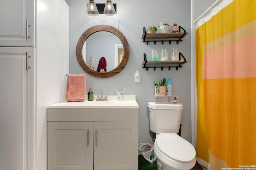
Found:
<path fill-rule="evenodd" d="M 139 170 L 157 170 L 157 160 L 153 145 L 140 143 L 138 145 Z"/>

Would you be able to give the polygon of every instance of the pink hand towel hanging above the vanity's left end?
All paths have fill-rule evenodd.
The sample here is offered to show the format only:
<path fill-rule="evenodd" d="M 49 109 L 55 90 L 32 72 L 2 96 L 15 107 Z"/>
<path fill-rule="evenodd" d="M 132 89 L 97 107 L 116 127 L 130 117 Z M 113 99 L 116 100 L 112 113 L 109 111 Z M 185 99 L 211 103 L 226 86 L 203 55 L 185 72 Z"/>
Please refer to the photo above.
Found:
<path fill-rule="evenodd" d="M 68 75 L 65 100 L 67 102 L 79 102 L 86 99 L 85 74 Z"/>

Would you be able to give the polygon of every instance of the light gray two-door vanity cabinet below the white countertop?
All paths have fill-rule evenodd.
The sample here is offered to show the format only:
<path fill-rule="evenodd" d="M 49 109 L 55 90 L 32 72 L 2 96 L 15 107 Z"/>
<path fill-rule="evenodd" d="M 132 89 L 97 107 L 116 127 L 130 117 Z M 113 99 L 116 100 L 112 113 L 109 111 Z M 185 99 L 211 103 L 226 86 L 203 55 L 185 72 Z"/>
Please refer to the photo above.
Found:
<path fill-rule="evenodd" d="M 48 170 L 138 170 L 138 109 L 48 108 Z"/>

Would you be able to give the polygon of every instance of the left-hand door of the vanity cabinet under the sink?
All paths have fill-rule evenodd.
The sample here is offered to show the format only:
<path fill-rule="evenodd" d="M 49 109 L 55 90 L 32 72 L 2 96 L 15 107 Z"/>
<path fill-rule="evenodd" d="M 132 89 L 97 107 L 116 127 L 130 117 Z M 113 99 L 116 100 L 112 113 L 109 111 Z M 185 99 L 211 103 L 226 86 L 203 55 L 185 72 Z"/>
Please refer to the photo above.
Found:
<path fill-rule="evenodd" d="M 92 122 L 48 122 L 48 170 L 93 170 Z"/>

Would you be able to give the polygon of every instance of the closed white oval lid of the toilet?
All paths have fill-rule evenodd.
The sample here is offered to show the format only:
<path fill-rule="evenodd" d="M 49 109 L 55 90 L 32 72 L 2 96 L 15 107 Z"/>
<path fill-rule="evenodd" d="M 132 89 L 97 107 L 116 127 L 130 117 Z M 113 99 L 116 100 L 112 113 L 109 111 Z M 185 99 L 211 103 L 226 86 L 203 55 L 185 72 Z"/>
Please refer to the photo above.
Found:
<path fill-rule="evenodd" d="M 160 133 L 156 146 L 160 152 L 178 162 L 190 162 L 196 157 L 193 145 L 176 133 Z"/>

